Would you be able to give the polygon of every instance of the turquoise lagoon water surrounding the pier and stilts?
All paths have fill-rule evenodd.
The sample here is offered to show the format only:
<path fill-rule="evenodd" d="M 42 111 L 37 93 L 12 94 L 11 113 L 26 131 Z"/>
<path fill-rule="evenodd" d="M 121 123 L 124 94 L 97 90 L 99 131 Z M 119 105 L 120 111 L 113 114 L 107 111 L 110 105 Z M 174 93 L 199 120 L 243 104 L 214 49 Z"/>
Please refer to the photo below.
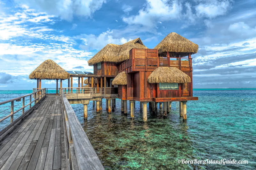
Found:
<path fill-rule="evenodd" d="M 16 91 L 17 92 L 17 91 Z M 28 91 L 0 91 L 0 100 Z M 15 96 L 16 95 L 16 96 Z M 122 115 L 120 100 L 108 114 L 90 101 L 88 120 L 83 105 L 71 105 L 105 169 L 256 169 L 256 89 L 194 89 L 198 101 L 187 102 L 187 122 L 172 102 L 163 119 L 162 110 L 143 123 L 140 104 L 135 117 Z M 178 160 L 248 160 L 248 164 L 181 164 Z"/>

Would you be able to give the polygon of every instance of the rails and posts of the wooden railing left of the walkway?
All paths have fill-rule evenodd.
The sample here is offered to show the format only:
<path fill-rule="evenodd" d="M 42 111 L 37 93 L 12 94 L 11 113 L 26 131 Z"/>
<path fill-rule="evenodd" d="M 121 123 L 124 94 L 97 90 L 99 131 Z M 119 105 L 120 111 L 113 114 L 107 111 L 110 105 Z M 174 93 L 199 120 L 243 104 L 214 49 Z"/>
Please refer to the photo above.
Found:
<path fill-rule="evenodd" d="M 29 96 L 29 99 L 25 100 L 25 98 L 28 96 Z M 32 101 L 32 96 L 34 97 L 33 101 Z M 11 110 L 9 112 L 10 114 L 8 114 L 5 117 L 3 117 L 2 119 L 0 119 L 0 122 L 3 122 L 7 118 L 11 117 L 10 122 L 7 122 L 4 126 L 0 127 L 0 130 L 1 130 L 0 138 L 2 138 L 4 135 L 6 135 L 7 132 L 9 132 L 11 129 L 13 129 L 14 126 L 16 126 L 20 122 L 21 118 L 24 117 L 25 115 L 27 115 L 27 113 L 30 112 L 35 107 L 36 103 L 43 100 L 45 96 L 46 96 L 45 88 L 42 88 L 41 90 L 34 91 L 30 94 L 26 94 L 24 96 L 20 96 L 20 97 L 14 98 L 14 99 L 0 102 L 0 106 L 4 105 L 6 103 L 11 103 L 11 107 L 8 107 L 7 109 L 0 111 L 0 114 L 2 115 L 3 113 L 6 113 L 7 110 L 9 110 L 9 109 Z M 17 108 L 17 106 L 20 105 L 21 103 L 14 105 L 14 101 L 21 101 L 21 99 L 22 99 L 22 102 L 21 102 L 22 107 Z M 28 100 L 29 100 L 29 102 L 26 103 L 26 105 L 25 105 L 25 101 L 28 101 Z M 34 103 L 34 105 L 32 106 L 33 103 Z M 25 110 L 25 108 L 28 106 L 29 106 L 29 108 L 27 110 Z M 15 109 L 15 107 L 17 109 Z M 16 113 L 18 113 L 20 110 L 22 110 L 21 115 L 19 115 L 19 117 L 16 117 L 16 119 L 14 120 L 13 116 Z"/>

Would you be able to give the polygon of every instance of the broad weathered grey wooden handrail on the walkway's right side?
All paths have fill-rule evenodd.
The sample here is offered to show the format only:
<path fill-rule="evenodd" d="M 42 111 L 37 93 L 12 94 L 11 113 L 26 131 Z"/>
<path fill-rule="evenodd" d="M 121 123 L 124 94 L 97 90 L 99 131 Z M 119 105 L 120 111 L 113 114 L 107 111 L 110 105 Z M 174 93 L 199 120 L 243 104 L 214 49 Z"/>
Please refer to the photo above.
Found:
<path fill-rule="evenodd" d="M 63 88 L 61 89 L 61 97 L 68 138 L 69 161 L 72 169 L 103 170 L 104 167 L 77 119 L 76 113 L 69 104 Z"/>

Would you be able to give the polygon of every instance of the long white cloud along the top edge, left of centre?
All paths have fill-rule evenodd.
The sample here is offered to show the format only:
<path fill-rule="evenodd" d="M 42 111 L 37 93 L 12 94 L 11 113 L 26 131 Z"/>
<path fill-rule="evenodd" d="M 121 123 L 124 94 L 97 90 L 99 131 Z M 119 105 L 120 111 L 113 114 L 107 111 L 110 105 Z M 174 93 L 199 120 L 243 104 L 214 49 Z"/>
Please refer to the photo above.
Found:
<path fill-rule="evenodd" d="M 73 16 L 91 17 L 99 10 L 105 0 L 15 0 L 22 6 L 26 5 L 39 11 L 47 12 L 60 18 L 71 20 Z"/>

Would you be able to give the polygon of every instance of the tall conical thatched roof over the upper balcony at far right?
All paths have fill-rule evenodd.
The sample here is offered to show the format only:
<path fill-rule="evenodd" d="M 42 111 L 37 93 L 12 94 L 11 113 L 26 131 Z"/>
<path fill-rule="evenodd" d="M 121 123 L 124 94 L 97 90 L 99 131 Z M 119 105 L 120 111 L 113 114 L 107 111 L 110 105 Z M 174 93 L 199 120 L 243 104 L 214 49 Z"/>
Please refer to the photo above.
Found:
<path fill-rule="evenodd" d="M 181 56 L 187 56 L 188 53 L 195 54 L 198 45 L 177 33 L 169 33 L 154 49 L 158 49 L 158 53 L 172 52 L 181 53 Z"/>

